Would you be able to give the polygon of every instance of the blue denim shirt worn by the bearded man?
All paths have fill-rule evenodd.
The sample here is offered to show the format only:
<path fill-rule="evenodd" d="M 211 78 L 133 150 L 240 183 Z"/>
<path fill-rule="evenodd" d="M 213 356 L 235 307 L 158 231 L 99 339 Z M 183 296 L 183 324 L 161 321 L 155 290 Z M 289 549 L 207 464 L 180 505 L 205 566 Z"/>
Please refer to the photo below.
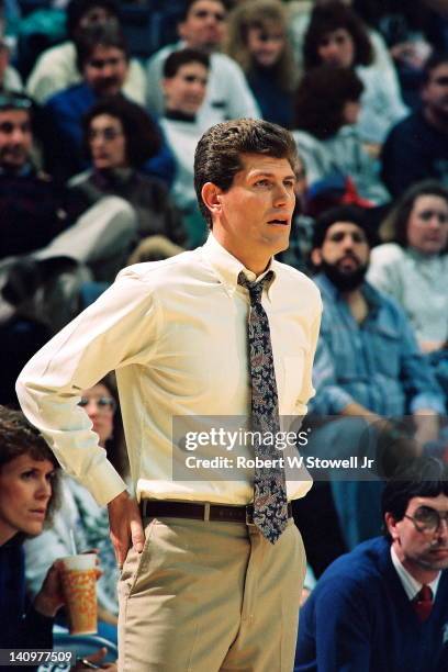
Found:
<path fill-rule="evenodd" d="M 314 280 L 322 292 L 324 313 L 314 359 L 316 395 L 311 410 L 320 415 L 338 415 L 355 402 L 387 416 L 418 408 L 443 414 L 443 392 L 399 304 L 365 282 L 361 291 L 369 313 L 358 324 L 326 276 Z"/>

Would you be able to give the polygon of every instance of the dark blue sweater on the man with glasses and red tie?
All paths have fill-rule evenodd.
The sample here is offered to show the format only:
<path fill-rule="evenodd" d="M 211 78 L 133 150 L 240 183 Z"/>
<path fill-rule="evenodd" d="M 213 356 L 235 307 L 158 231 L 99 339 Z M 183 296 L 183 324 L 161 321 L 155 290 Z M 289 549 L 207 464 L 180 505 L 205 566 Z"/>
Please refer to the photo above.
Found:
<path fill-rule="evenodd" d="M 447 672 L 448 572 L 421 623 L 392 564 L 369 539 L 324 572 L 300 614 L 294 672 Z"/>

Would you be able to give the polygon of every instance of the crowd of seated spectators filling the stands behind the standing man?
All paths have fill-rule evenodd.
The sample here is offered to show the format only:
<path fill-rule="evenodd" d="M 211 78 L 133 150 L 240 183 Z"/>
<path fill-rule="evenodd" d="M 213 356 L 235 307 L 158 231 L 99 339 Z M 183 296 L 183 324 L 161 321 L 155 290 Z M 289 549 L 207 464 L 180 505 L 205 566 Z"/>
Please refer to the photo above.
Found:
<path fill-rule="evenodd" d="M 193 158 L 206 128 L 247 116 L 291 130 L 302 172 L 282 260 L 315 278 L 324 302 L 307 450 L 381 456 L 370 480 L 327 473 L 295 503 L 310 575 L 318 579 L 381 534 L 384 511 L 394 511 L 381 509 L 381 497 L 397 452 L 448 461 L 448 11 L 437 0 L 186 0 L 176 3 L 178 42 L 160 37 L 143 60 L 120 4 L 42 3 L 51 16 L 63 13 L 65 36 L 24 72 L 18 35 L 25 3 L 2 3 L 0 404 L 16 404 L 25 361 L 121 268 L 203 244 Z M 80 396 L 132 489 L 113 381 Z M 29 432 L 15 416 L 5 415 L 8 423 Z M 53 472 L 54 459 L 36 445 L 40 468 Z M 70 478 L 58 480 L 64 505 L 24 544 L 29 598 L 42 602 L 74 528 L 79 547 L 99 549 L 100 627 L 115 641 L 105 509 Z M 51 494 L 42 495 L 45 506 Z M 390 535 L 392 527 L 389 520 Z M 383 546 L 372 546 L 378 558 Z M 362 548 L 355 564 L 372 562 Z M 0 574 L 2 553 L 23 563 L 22 546 L 10 539 L 0 551 Z M 346 560 L 334 567 L 307 607 L 298 670 L 368 669 L 331 667 L 331 650 L 324 667 L 310 662 L 325 586 L 350 572 Z M 15 579 L 23 591 L 23 576 Z M 42 613 L 30 607 L 27 618 L 45 630 L 45 643 Z M 300 667 L 305 659 L 311 667 Z"/>

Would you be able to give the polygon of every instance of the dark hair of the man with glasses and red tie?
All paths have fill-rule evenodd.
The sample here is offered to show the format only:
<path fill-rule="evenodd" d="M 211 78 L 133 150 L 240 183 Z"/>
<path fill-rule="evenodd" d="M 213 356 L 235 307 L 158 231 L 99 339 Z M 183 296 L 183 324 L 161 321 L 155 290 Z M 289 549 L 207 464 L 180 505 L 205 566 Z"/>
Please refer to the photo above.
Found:
<path fill-rule="evenodd" d="M 412 497 L 448 496 L 448 464 L 436 458 L 418 458 L 404 464 L 387 482 L 381 512 L 401 520 Z"/>

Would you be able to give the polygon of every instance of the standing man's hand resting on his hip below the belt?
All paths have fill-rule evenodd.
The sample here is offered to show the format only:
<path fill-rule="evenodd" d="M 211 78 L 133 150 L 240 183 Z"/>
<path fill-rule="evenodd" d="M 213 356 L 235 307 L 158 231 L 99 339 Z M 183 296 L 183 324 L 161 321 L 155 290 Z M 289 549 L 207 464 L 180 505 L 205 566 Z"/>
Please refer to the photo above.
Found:
<path fill-rule="evenodd" d="M 120 568 L 126 559 L 131 545 L 141 553 L 145 544 L 138 504 L 127 492 L 122 492 L 108 504 L 111 540 Z"/>

